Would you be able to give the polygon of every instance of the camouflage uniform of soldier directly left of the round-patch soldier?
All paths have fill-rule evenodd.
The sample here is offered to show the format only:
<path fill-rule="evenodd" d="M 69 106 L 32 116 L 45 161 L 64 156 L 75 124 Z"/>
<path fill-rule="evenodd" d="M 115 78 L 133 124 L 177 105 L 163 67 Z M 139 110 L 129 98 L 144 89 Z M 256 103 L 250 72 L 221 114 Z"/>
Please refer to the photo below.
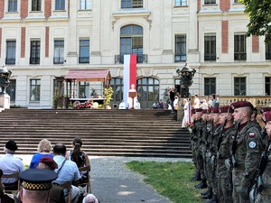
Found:
<path fill-rule="evenodd" d="M 236 130 L 232 125 L 229 128 L 224 128 L 222 133 L 222 141 L 220 143 L 220 149 L 218 150 L 217 161 L 217 179 L 218 179 L 218 198 L 220 203 L 231 203 L 232 201 L 232 180 L 231 170 L 225 165 L 225 161 L 231 156 L 232 136 L 234 136 Z"/>

